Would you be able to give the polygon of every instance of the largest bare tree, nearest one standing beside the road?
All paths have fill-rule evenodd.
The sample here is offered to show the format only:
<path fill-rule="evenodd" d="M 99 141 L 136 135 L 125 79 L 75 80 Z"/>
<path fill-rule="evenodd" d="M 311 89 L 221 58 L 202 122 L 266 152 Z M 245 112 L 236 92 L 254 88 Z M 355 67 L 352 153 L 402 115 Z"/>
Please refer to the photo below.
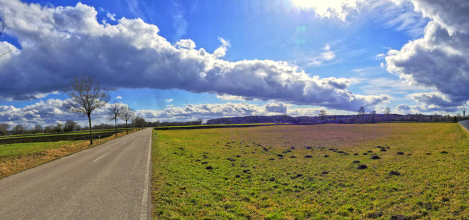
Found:
<path fill-rule="evenodd" d="M 95 80 L 90 75 L 81 75 L 75 78 L 71 89 L 71 92 L 68 93 L 71 103 L 67 108 L 71 112 L 88 116 L 90 145 L 93 145 L 91 112 L 106 105 L 109 101 L 109 95 L 101 89 L 99 80 Z"/>

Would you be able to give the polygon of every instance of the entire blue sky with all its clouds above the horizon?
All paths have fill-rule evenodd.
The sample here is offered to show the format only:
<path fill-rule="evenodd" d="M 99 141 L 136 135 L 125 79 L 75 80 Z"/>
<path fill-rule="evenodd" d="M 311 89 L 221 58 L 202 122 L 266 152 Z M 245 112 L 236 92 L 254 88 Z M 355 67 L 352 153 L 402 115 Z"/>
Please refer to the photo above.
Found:
<path fill-rule="evenodd" d="M 367 112 L 469 100 L 469 1 L 0 0 L 0 123 L 54 125 L 92 75 L 148 121 Z M 96 110 L 94 123 L 111 123 Z"/>

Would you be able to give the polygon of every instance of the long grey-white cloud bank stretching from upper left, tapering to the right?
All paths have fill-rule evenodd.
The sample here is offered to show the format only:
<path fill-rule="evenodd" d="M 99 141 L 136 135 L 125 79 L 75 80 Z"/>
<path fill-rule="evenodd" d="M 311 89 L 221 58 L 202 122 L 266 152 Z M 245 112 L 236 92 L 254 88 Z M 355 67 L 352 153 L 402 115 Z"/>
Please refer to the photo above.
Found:
<path fill-rule="evenodd" d="M 219 38 L 221 46 L 208 53 L 188 39 L 172 45 L 158 35 L 156 25 L 141 19 L 99 23 L 96 9 L 81 3 L 52 7 L 0 0 L 0 4 L 9 18 L 6 32 L 21 45 L 0 61 L 4 99 L 28 100 L 39 93 L 64 92 L 82 73 L 96 76 L 107 89 L 177 88 L 341 110 L 390 99 L 388 95 L 355 95 L 348 90 L 351 82 L 346 78 L 311 76 L 284 61 L 225 61 L 222 57 L 230 43 L 223 38 Z M 0 48 L 11 46 L 0 44 Z"/>

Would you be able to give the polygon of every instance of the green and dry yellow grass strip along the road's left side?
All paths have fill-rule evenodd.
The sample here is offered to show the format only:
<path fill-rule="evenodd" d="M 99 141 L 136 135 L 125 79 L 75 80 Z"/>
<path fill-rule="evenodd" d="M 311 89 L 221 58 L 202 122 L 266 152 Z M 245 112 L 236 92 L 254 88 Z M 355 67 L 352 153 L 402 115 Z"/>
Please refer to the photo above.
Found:
<path fill-rule="evenodd" d="M 130 133 L 131 131 L 129 131 Z M 117 136 L 121 137 L 123 135 L 126 135 L 126 132 L 120 132 Z M 0 179 L 51 160 L 101 145 L 114 138 L 116 137 L 112 135 L 101 140 L 93 140 L 93 145 L 89 144 L 89 140 L 0 145 Z"/>

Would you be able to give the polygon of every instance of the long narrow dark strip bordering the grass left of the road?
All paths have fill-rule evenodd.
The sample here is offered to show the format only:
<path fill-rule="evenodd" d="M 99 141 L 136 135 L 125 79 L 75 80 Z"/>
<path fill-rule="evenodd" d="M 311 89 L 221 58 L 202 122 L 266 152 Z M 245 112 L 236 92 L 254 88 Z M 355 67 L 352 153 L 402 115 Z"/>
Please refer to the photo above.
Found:
<path fill-rule="evenodd" d="M 115 132 L 97 133 L 97 134 L 93 134 L 93 139 L 109 137 L 114 134 Z M 17 138 L 10 138 L 10 139 L 0 139 L 0 145 L 28 143 L 28 142 L 54 142 L 54 141 L 60 141 L 60 140 L 87 140 L 87 139 L 89 139 L 89 134 L 17 137 Z"/>

